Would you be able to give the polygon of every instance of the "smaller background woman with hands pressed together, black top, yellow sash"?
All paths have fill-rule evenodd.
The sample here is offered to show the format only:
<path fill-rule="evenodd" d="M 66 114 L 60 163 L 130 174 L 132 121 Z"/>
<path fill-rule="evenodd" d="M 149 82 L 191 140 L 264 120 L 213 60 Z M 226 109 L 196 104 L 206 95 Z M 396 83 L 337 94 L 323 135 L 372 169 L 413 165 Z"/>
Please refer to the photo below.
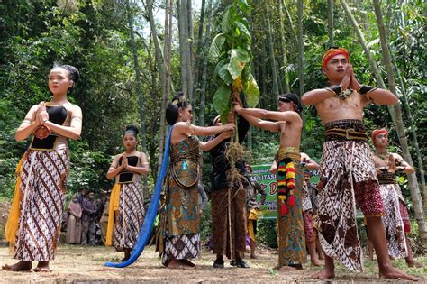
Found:
<path fill-rule="evenodd" d="M 126 126 L 123 133 L 125 151 L 114 157 L 107 179 L 115 178 L 109 202 L 108 225 L 105 245 L 113 244 L 117 252 L 124 252 L 122 261 L 127 261 L 141 234 L 144 222 L 144 197 L 141 175 L 149 172 L 149 162 L 144 152 L 137 151 L 138 128 Z"/>

